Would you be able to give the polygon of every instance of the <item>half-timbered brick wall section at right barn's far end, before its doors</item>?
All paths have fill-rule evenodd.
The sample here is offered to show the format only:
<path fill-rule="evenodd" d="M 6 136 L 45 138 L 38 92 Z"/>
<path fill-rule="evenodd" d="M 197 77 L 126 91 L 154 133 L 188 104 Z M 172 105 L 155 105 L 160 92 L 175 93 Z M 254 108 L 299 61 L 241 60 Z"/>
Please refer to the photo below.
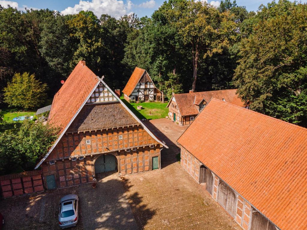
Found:
<path fill-rule="evenodd" d="M 181 166 L 199 183 L 200 161 L 181 146 Z"/>

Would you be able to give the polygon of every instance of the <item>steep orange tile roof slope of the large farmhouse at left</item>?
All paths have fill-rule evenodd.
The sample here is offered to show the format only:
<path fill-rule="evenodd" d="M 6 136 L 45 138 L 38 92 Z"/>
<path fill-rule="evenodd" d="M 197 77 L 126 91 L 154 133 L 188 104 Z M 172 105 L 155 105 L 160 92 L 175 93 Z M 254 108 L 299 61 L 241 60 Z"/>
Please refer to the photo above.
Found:
<path fill-rule="evenodd" d="M 97 76 L 80 61 L 53 98 L 49 123 L 64 131 L 98 83 Z"/>

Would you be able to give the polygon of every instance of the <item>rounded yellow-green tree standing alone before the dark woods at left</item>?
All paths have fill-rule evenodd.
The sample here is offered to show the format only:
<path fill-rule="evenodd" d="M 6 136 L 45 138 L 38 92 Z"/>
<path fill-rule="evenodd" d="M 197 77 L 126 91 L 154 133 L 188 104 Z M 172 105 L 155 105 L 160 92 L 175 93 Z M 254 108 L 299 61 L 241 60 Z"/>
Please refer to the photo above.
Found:
<path fill-rule="evenodd" d="M 9 107 L 16 106 L 24 109 L 33 109 L 42 105 L 47 98 L 45 93 L 48 89 L 47 84 L 42 84 L 35 79 L 35 75 L 25 72 L 22 75 L 16 73 L 4 88 L 4 102 Z"/>

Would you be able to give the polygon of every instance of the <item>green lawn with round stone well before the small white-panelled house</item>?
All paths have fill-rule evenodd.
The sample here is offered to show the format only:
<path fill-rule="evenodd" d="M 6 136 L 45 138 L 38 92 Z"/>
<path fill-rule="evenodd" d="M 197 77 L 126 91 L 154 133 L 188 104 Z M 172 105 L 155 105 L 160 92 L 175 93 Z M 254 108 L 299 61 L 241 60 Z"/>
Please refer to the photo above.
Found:
<path fill-rule="evenodd" d="M 132 111 L 139 119 L 159 119 L 168 116 L 169 108 L 166 108 L 167 103 L 161 102 L 142 102 L 142 103 L 129 103 L 121 97 L 123 103 Z M 142 110 L 137 110 L 137 106 L 143 106 Z"/>

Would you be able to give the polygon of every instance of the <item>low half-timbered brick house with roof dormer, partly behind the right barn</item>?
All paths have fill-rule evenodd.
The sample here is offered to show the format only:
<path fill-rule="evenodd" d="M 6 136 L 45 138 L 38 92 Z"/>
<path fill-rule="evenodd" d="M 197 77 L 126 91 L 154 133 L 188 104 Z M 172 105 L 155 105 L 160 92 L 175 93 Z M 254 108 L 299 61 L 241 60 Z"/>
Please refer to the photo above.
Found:
<path fill-rule="evenodd" d="M 205 92 L 190 90 L 189 93 L 174 94 L 167 105 L 169 119 L 179 125 L 189 125 L 212 97 L 244 107 L 244 102 L 238 97 L 236 91 L 236 89 Z"/>

